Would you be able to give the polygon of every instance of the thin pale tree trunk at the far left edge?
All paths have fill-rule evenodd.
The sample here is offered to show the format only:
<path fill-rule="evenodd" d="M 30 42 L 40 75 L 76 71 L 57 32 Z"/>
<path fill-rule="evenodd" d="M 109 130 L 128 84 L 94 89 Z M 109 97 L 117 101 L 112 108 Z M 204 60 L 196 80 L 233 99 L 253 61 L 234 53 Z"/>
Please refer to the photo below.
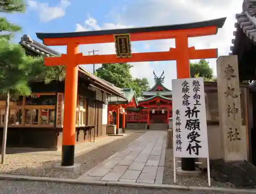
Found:
<path fill-rule="evenodd" d="M 7 141 L 7 127 L 8 127 L 8 118 L 9 118 L 9 103 L 10 103 L 10 92 L 7 91 L 6 97 L 6 107 L 5 107 L 5 126 L 3 132 L 3 142 L 2 142 L 2 160 L 1 164 L 5 163 L 5 153 L 6 153 L 6 141 Z"/>

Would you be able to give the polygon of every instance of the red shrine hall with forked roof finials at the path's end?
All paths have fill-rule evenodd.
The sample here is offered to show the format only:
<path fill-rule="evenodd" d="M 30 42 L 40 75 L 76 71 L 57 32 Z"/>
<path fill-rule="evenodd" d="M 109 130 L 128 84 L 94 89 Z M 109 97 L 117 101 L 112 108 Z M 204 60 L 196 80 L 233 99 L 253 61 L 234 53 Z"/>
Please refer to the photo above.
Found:
<path fill-rule="evenodd" d="M 168 118 L 172 117 L 172 91 L 163 85 L 164 71 L 160 77 L 155 72 L 155 85 L 143 92 L 143 100 L 136 108 L 127 108 L 127 128 L 168 129 Z"/>

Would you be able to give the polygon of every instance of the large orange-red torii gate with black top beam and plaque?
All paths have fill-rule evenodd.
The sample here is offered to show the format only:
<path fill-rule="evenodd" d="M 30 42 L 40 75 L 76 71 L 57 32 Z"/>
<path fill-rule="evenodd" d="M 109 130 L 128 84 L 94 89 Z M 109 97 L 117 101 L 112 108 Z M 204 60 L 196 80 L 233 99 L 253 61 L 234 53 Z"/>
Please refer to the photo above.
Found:
<path fill-rule="evenodd" d="M 36 33 L 45 45 L 67 45 L 67 54 L 61 57 L 45 58 L 45 65 L 66 65 L 65 104 L 62 139 L 62 166 L 74 164 L 75 120 L 79 64 L 123 63 L 143 61 L 177 61 L 177 78 L 189 78 L 189 60 L 217 58 L 217 49 L 196 50 L 188 47 L 189 37 L 215 35 L 222 28 L 226 18 L 187 23 L 181 25 L 131 28 L 72 33 Z M 114 36 L 113 36 L 114 35 Z M 175 38 L 175 48 L 166 52 L 131 52 L 130 41 Z M 119 41 L 121 39 L 121 42 Z M 79 44 L 116 43 L 117 55 L 83 56 L 78 53 Z M 123 50 L 122 50 L 123 49 Z"/>

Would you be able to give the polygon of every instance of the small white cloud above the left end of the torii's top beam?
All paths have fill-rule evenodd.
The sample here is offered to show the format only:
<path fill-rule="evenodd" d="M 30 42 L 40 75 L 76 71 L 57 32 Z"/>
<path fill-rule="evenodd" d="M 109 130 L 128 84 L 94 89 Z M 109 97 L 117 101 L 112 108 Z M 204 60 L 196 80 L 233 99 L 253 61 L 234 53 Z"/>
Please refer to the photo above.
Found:
<path fill-rule="evenodd" d="M 28 0 L 29 7 L 39 12 L 41 22 L 48 22 L 63 17 L 66 14 L 66 8 L 70 4 L 69 0 L 60 0 L 57 6 L 49 6 L 48 3 L 38 3 L 34 0 Z"/>

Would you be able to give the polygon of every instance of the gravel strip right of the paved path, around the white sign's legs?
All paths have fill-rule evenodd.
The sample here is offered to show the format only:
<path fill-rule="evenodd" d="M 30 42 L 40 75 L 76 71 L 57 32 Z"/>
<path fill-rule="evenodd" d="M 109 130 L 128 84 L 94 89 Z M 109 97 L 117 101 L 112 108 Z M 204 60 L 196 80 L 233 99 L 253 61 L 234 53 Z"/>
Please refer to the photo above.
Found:
<path fill-rule="evenodd" d="M 183 186 L 208 186 L 207 174 L 202 174 L 198 177 L 185 177 L 177 176 L 177 185 Z M 174 184 L 174 171 L 173 171 L 173 149 L 166 149 L 163 184 Z M 211 179 L 211 186 L 234 188 L 231 183 L 220 183 Z"/>

